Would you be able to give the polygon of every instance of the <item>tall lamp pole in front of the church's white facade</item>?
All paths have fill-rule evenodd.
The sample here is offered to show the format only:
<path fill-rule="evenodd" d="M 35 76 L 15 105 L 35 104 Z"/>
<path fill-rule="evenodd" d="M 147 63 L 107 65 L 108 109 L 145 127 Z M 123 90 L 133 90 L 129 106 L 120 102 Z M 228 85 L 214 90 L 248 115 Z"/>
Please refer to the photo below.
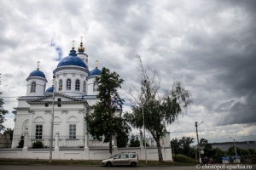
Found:
<path fill-rule="evenodd" d="M 54 112 L 55 112 L 55 77 L 52 80 L 52 110 L 50 122 L 50 141 L 49 141 L 49 163 L 52 162 L 52 141 L 53 141 L 53 126 L 54 126 Z"/>

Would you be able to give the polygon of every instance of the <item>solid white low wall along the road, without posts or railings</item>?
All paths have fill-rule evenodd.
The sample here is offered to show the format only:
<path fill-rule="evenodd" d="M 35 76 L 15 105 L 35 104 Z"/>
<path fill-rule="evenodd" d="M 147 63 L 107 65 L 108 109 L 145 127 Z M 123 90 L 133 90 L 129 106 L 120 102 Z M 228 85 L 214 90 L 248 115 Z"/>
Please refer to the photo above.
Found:
<path fill-rule="evenodd" d="M 172 161 L 172 149 L 162 148 L 164 161 Z M 113 155 L 121 152 L 136 152 L 139 160 L 145 160 L 144 148 L 114 148 Z M 54 149 L 53 160 L 102 160 L 109 157 L 108 148 Z M 0 149 L 0 158 L 49 159 L 49 149 Z M 158 160 L 157 148 L 147 148 L 147 160 Z"/>

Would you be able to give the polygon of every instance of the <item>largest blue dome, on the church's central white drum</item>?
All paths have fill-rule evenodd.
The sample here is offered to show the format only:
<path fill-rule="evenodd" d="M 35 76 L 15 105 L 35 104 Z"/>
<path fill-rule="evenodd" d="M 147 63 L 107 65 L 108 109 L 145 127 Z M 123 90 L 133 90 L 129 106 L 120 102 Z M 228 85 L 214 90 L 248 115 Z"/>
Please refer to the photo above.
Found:
<path fill-rule="evenodd" d="M 75 50 L 71 50 L 70 54 L 67 57 L 65 57 L 64 59 L 61 59 L 60 63 L 57 65 L 57 68 L 65 65 L 75 65 L 75 66 L 84 67 L 85 69 L 87 68 L 84 61 L 79 57 L 77 57 Z"/>

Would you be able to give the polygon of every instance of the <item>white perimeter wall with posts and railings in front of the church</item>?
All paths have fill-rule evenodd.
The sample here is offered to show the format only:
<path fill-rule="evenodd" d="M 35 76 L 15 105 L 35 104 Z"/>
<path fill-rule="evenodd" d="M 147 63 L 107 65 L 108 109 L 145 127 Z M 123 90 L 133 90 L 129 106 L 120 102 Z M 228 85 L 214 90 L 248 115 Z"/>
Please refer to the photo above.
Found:
<path fill-rule="evenodd" d="M 103 142 L 97 141 L 97 144 L 93 144 L 96 140 L 88 139 L 88 135 L 78 137 L 77 139 L 67 139 L 67 136 L 60 136 L 59 133 L 55 133 L 53 141 L 52 159 L 55 160 L 102 160 L 109 157 L 108 144 L 103 145 Z M 169 133 L 166 135 L 161 151 L 164 161 L 172 161 L 172 148 L 170 147 Z M 29 136 L 26 132 L 24 135 L 24 146 L 22 149 L 17 149 L 20 137 L 15 137 L 12 149 L 0 150 L 0 158 L 11 159 L 49 159 L 49 148 L 47 149 L 30 149 L 35 139 L 33 136 Z M 44 145 L 49 146 L 49 137 L 40 139 Z M 143 147 L 143 134 L 141 134 L 140 147 L 136 148 L 118 148 L 116 140 L 113 142 L 113 154 L 120 152 L 136 152 L 140 160 L 145 160 L 145 149 Z M 168 145 L 169 144 L 169 145 Z M 63 147 L 62 147 L 63 146 Z M 105 147 L 104 147 L 105 146 Z M 158 160 L 158 150 L 156 147 L 147 148 L 147 159 Z"/>

